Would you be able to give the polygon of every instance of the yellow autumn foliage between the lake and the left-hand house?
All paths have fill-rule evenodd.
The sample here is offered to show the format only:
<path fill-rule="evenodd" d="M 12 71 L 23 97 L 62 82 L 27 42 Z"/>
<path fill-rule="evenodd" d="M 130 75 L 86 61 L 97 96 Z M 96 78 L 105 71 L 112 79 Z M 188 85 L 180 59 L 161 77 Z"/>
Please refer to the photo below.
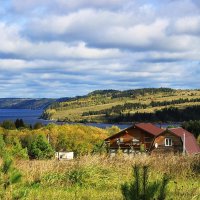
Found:
<path fill-rule="evenodd" d="M 1 131 L 1 130 L 0 130 Z M 108 131 L 96 127 L 80 124 L 56 125 L 49 124 L 37 130 L 3 130 L 6 140 L 11 141 L 15 137 L 21 141 L 32 135 L 42 134 L 49 139 L 56 151 L 74 151 L 77 155 L 92 153 L 100 148 Z"/>

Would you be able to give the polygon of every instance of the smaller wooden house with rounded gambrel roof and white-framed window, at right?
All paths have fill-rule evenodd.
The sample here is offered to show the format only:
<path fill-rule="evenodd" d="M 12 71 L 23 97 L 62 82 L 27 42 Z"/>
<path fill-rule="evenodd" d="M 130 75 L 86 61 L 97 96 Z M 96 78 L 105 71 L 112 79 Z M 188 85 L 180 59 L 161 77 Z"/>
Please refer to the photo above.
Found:
<path fill-rule="evenodd" d="M 197 154 L 200 153 L 200 147 L 192 133 L 179 127 L 166 129 L 157 135 L 150 151 L 152 154 L 169 152 Z"/>

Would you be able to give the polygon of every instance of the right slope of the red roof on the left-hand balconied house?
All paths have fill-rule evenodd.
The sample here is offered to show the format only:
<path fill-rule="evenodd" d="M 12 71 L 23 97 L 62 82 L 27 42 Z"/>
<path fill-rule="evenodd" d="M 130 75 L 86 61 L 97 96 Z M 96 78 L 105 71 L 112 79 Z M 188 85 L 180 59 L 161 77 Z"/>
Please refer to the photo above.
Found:
<path fill-rule="evenodd" d="M 155 136 L 163 132 L 163 129 L 158 128 L 157 126 L 151 123 L 139 123 L 139 124 L 135 124 L 135 126 Z"/>

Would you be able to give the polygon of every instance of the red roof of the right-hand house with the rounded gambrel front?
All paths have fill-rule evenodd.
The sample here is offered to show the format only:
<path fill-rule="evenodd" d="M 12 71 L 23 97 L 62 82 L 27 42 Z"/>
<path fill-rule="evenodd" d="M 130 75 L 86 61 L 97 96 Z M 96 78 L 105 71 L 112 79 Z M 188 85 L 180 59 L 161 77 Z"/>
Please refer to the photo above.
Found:
<path fill-rule="evenodd" d="M 170 128 L 169 130 L 175 135 L 181 137 L 182 141 L 185 134 L 185 148 L 188 154 L 200 153 L 200 147 L 192 133 L 183 128 Z"/>

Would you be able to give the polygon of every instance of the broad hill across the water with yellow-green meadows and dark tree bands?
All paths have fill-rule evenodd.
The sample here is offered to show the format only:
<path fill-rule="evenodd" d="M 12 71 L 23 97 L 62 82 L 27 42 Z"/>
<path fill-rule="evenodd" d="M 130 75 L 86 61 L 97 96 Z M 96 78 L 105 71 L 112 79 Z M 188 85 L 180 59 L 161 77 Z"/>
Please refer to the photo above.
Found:
<path fill-rule="evenodd" d="M 200 90 L 97 90 L 53 103 L 42 117 L 66 122 L 185 121 L 200 119 L 198 105 Z"/>

